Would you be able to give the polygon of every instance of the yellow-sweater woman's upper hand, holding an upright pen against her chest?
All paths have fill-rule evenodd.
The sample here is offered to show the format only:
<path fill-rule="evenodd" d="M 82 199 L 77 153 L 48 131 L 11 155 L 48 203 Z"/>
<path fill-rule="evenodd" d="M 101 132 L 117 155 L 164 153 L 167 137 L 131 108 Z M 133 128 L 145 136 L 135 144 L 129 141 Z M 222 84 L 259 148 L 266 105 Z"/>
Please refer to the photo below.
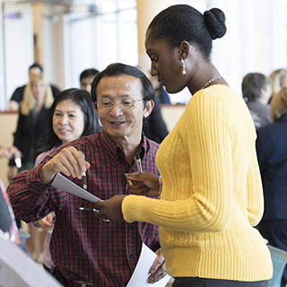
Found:
<path fill-rule="evenodd" d="M 136 196 L 159 196 L 159 177 L 150 173 L 143 171 L 143 173 L 126 173 L 126 182 L 128 184 L 128 189 L 131 194 Z"/>

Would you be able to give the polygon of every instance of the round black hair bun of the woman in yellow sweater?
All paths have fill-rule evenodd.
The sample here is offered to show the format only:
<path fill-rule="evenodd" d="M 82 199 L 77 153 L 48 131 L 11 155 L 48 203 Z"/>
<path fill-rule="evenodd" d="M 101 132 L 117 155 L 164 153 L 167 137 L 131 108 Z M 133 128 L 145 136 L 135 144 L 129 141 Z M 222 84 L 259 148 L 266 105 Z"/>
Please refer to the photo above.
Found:
<path fill-rule="evenodd" d="M 225 15 L 221 9 L 213 8 L 204 12 L 204 21 L 212 39 L 222 38 L 226 33 Z"/>

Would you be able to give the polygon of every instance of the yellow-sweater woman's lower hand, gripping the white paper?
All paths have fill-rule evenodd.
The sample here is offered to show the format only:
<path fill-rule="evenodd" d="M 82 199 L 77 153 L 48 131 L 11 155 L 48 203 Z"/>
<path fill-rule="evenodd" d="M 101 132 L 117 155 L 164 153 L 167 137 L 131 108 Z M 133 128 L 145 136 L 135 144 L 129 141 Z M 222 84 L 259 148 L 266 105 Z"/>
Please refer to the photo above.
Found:
<path fill-rule="evenodd" d="M 93 208 L 99 210 L 95 218 L 102 218 L 104 221 L 123 222 L 122 202 L 126 196 L 113 196 L 105 201 L 93 204 Z"/>

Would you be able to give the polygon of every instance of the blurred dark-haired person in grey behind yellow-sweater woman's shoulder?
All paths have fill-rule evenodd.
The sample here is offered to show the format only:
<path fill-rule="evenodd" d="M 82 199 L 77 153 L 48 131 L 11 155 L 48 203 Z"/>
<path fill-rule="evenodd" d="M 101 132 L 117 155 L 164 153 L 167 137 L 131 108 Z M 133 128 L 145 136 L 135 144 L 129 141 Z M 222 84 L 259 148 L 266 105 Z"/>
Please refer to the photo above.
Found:
<path fill-rule="evenodd" d="M 256 129 L 271 124 L 268 101 L 272 90 L 269 79 L 264 74 L 249 73 L 243 78 L 241 88 Z"/>

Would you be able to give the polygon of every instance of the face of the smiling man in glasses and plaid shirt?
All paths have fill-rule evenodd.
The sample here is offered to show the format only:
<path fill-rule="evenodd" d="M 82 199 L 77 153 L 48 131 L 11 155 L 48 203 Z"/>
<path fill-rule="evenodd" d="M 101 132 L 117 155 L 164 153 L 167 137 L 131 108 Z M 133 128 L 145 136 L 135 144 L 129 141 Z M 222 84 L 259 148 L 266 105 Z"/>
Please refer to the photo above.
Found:
<path fill-rule="evenodd" d="M 116 100 L 130 102 L 135 100 L 129 109 L 121 109 Z M 153 101 L 143 104 L 143 85 L 140 79 L 121 74 L 117 76 L 104 76 L 97 86 L 97 102 L 113 105 L 109 109 L 100 109 L 97 112 L 100 123 L 105 132 L 116 142 L 139 143 L 142 138 L 143 117 L 152 112 Z"/>

